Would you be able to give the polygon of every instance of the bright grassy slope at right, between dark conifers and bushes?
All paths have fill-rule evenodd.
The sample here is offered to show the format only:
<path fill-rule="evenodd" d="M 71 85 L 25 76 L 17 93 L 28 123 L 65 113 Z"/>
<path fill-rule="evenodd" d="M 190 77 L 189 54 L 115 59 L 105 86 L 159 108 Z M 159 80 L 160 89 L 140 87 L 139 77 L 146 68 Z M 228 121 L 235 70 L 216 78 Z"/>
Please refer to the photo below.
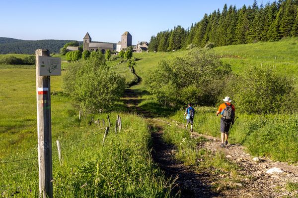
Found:
<path fill-rule="evenodd" d="M 222 61 L 235 73 L 245 75 L 250 67 L 267 67 L 283 75 L 298 78 L 298 37 L 277 42 L 259 42 L 215 48 Z"/>

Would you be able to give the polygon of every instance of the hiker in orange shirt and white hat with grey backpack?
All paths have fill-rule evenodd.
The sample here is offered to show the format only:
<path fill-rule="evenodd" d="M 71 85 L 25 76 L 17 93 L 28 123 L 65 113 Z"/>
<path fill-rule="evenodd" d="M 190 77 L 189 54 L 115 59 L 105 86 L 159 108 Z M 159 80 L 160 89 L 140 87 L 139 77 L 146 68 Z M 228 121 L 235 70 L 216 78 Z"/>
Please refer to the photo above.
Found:
<path fill-rule="evenodd" d="M 216 112 L 216 116 L 221 113 L 221 132 L 222 132 L 222 144 L 221 147 L 227 146 L 227 138 L 228 131 L 230 129 L 231 124 L 234 124 L 235 119 L 235 107 L 231 104 L 231 99 L 229 97 L 225 97 L 224 103 L 222 103 L 219 107 L 219 110 Z"/>

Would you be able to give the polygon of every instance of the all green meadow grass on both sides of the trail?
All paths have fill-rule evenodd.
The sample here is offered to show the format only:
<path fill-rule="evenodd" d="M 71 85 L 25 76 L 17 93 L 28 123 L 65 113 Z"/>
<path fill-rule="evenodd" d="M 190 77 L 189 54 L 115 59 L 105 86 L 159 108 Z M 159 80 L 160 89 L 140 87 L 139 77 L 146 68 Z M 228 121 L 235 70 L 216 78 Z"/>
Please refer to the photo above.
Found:
<path fill-rule="evenodd" d="M 297 79 L 297 43 L 297 38 L 289 38 L 279 42 L 227 46 L 214 50 L 239 75 L 245 75 L 248 68 L 256 66 L 269 67 L 281 75 Z M 132 87 L 143 94 L 139 96 L 142 100 L 139 106 L 155 117 L 166 117 L 180 124 L 183 122 L 182 111 L 157 104 L 147 92 L 145 82 L 158 62 L 186 53 L 186 50 L 134 53 L 137 63 L 135 70 L 142 78 L 139 85 Z M 22 58 L 26 55 L 19 56 Z M 64 56 L 54 56 L 62 58 L 63 70 L 72 64 L 66 62 Z M 5 55 L 0 56 L 3 57 Z M 125 77 L 127 83 L 134 80 L 135 76 L 126 62 L 110 60 L 107 65 Z M 145 119 L 123 113 L 124 104 L 118 102 L 115 106 L 117 110 L 109 113 L 112 129 L 102 146 L 104 128 L 89 126 L 88 121 L 91 116 L 106 119 L 107 114 L 89 115 L 86 120 L 78 121 L 78 112 L 63 94 L 61 85 L 62 76 L 51 77 L 54 196 L 169 197 L 172 181 L 166 179 L 152 162 L 149 152 L 150 132 Z M 38 194 L 35 92 L 34 65 L 0 65 L 0 192 L 4 197 L 14 193 L 20 197 L 37 197 Z M 195 108 L 195 131 L 219 137 L 216 107 Z M 124 130 L 116 135 L 113 127 L 117 114 L 123 117 Z M 237 116 L 239 118 L 231 129 L 230 143 L 243 144 L 254 156 L 298 162 L 297 114 L 246 115 L 237 112 Z M 208 156 L 205 150 L 196 149 L 200 141 L 206 140 L 193 141 L 189 139 L 188 133 L 178 131 L 181 129 L 165 126 L 163 137 L 165 142 L 177 145 L 180 149 L 177 159 L 187 165 L 196 165 L 198 158 Z M 62 164 L 58 160 L 56 140 L 62 145 Z M 185 144 L 183 149 L 179 146 L 181 142 Z M 216 156 L 218 162 L 228 163 L 221 153 Z M 206 161 L 213 163 L 212 158 L 206 158 Z M 226 164 L 225 171 L 236 169 L 234 164 Z"/>

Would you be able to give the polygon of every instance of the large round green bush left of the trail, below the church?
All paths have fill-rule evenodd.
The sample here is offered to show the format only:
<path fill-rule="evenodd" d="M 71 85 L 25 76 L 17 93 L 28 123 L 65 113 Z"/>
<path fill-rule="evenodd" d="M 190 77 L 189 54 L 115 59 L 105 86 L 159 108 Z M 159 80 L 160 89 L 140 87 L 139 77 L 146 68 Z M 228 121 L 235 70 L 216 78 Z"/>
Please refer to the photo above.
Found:
<path fill-rule="evenodd" d="M 108 110 L 123 95 L 125 79 L 109 70 L 102 53 L 92 51 L 83 64 L 74 64 L 64 76 L 64 90 L 85 112 Z"/>

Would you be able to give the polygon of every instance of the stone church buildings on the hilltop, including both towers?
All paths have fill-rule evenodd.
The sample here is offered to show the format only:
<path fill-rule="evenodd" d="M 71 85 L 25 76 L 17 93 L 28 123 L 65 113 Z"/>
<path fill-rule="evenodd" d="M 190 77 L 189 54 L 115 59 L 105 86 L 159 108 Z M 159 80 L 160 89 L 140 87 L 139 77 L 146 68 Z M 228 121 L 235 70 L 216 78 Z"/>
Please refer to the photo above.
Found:
<path fill-rule="evenodd" d="M 111 51 L 120 51 L 121 49 L 126 49 L 130 46 L 132 46 L 132 35 L 127 31 L 121 36 L 121 42 L 118 42 L 118 44 L 92 42 L 88 32 L 83 38 L 83 50 L 89 50 L 90 52 L 93 50 L 100 50 L 102 53 L 105 53 L 108 49 Z"/>

